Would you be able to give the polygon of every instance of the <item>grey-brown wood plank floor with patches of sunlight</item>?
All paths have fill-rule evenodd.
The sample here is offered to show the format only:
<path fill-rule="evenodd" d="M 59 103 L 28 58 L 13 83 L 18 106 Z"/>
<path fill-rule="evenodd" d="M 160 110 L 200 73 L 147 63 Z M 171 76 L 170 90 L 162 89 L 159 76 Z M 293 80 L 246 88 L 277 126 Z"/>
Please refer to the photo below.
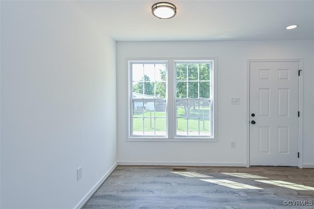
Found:
<path fill-rule="evenodd" d="M 173 168 L 119 166 L 83 209 L 314 209 L 313 168 Z"/>

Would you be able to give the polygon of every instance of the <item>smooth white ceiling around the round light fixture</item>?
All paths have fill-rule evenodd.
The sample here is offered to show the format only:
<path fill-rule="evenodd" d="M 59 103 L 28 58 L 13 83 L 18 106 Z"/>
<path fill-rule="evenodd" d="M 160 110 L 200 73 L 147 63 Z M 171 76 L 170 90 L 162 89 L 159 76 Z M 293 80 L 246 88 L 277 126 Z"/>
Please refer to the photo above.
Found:
<path fill-rule="evenodd" d="M 314 0 L 168 0 L 173 19 L 151 13 L 161 0 L 76 1 L 116 41 L 313 40 Z M 299 24 L 286 30 L 290 24 Z"/>

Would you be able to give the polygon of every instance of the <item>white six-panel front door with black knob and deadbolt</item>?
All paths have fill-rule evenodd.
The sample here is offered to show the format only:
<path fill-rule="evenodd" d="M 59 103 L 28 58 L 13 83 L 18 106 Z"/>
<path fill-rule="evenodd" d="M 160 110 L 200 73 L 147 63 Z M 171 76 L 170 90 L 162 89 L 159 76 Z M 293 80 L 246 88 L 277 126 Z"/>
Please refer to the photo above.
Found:
<path fill-rule="evenodd" d="M 250 62 L 250 165 L 298 166 L 299 62 Z"/>

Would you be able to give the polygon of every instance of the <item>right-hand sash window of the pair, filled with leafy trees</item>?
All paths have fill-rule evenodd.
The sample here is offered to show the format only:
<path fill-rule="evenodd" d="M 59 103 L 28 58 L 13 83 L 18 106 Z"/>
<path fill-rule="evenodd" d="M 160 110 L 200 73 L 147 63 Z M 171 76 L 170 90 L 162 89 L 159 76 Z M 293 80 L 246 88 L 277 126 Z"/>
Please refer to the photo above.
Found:
<path fill-rule="evenodd" d="M 176 71 L 176 136 L 212 137 L 211 65 L 178 61 Z"/>

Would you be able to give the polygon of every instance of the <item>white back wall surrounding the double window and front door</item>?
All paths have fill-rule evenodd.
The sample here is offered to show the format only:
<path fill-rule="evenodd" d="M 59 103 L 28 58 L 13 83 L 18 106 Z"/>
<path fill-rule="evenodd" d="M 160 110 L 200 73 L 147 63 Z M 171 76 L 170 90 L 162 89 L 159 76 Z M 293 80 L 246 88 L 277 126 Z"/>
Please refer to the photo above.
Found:
<path fill-rule="evenodd" d="M 118 42 L 118 164 L 226 165 L 247 163 L 248 59 L 303 59 L 303 164 L 314 165 L 313 41 Z M 128 139 L 128 58 L 216 57 L 218 66 L 217 142 L 130 142 Z M 231 105 L 240 98 L 240 105 Z M 236 148 L 231 148 L 231 141 Z M 302 154 L 302 153 L 301 153 Z"/>

